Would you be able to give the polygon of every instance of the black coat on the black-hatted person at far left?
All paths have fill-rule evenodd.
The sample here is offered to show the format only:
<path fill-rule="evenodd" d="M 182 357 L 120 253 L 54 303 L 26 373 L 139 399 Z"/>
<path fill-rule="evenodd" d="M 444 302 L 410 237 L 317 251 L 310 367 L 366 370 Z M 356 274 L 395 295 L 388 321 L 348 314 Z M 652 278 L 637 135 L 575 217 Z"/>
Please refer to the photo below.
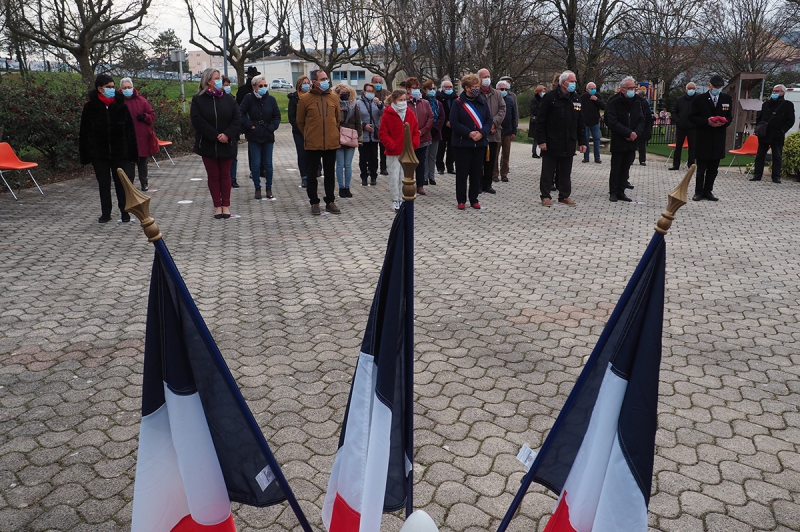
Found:
<path fill-rule="evenodd" d="M 78 143 L 81 164 L 95 159 L 136 161 L 139 157 L 136 129 L 125 98 L 117 92 L 114 102 L 106 107 L 97 94 L 97 89 L 89 92 L 89 101 L 81 114 Z"/>

